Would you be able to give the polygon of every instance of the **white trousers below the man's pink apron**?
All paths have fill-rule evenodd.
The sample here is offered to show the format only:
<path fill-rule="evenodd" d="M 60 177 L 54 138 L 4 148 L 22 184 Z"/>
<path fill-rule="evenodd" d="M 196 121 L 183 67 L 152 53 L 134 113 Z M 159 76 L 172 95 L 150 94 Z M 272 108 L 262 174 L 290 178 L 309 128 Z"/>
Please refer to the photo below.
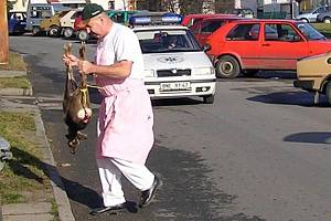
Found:
<path fill-rule="evenodd" d="M 97 166 L 105 207 L 111 207 L 126 201 L 121 189 L 121 175 L 141 191 L 150 189 L 154 181 L 154 175 L 145 165 L 137 165 L 117 158 L 99 158 L 97 159 Z"/>

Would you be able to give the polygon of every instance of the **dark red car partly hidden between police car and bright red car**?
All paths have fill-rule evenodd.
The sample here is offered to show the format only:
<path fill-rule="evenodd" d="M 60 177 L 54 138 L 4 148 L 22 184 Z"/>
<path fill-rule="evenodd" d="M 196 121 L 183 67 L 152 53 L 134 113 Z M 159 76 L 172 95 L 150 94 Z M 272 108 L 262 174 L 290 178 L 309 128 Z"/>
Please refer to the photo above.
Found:
<path fill-rule="evenodd" d="M 192 27 L 190 27 L 190 30 L 199 41 L 200 45 L 203 46 L 205 45 L 207 38 L 217 29 L 220 29 L 220 27 L 237 19 L 243 18 L 235 15 L 218 15 L 215 18 L 206 18 L 195 22 Z"/>

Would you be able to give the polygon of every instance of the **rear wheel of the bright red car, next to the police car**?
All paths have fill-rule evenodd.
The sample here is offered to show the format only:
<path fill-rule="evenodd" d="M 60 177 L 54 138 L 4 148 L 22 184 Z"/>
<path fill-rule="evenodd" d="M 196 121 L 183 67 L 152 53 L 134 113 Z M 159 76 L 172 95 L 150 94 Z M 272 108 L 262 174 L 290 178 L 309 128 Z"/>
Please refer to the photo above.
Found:
<path fill-rule="evenodd" d="M 235 78 L 241 73 L 241 65 L 235 57 L 224 55 L 217 61 L 215 70 L 217 77 Z"/>

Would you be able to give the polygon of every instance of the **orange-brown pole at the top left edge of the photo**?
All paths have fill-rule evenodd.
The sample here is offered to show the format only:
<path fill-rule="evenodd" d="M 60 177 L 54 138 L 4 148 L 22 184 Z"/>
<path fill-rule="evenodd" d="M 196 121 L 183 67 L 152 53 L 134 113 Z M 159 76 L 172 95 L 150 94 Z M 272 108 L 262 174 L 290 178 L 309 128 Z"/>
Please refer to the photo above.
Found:
<path fill-rule="evenodd" d="M 0 64 L 8 64 L 9 62 L 9 40 L 7 22 L 7 0 L 0 0 Z"/>

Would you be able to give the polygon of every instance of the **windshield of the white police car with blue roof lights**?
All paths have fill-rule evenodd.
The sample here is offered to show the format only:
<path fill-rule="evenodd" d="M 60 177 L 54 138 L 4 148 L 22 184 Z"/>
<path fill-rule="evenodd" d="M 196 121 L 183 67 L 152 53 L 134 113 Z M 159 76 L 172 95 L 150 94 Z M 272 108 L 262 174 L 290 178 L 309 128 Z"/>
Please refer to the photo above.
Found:
<path fill-rule="evenodd" d="M 194 52 L 201 46 L 188 30 L 136 31 L 142 53 Z"/>

